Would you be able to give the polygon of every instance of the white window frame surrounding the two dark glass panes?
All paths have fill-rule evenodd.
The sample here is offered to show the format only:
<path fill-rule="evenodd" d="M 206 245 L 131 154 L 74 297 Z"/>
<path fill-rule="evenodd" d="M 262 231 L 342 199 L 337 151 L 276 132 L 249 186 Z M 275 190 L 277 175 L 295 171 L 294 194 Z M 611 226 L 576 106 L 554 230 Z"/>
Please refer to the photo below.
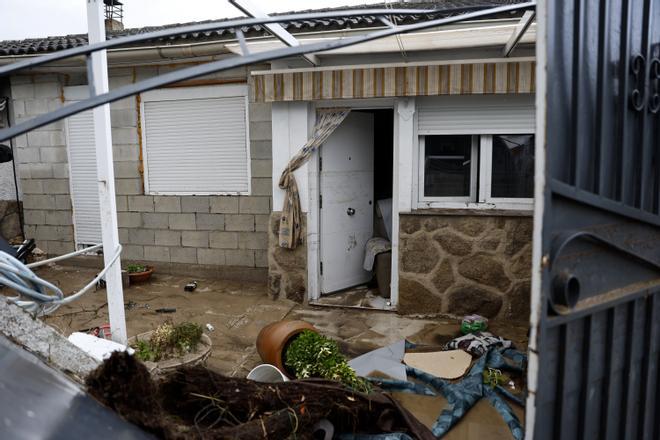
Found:
<path fill-rule="evenodd" d="M 424 133 L 417 137 L 417 208 L 449 208 L 449 209 L 502 209 L 531 211 L 534 198 L 493 197 L 493 136 L 507 134 L 531 134 L 534 130 L 491 130 L 489 133 L 456 133 L 453 131 Z M 426 136 L 465 135 L 472 136 L 471 196 L 470 197 L 429 197 L 424 195 L 424 160 Z M 475 146 L 476 144 L 476 146 Z M 476 148 L 476 153 L 475 153 Z M 536 142 L 534 151 L 536 153 Z M 477 165 L 478 164 L 478 165 Z M 474 168 L 477 167 L 477 171 Z"/>

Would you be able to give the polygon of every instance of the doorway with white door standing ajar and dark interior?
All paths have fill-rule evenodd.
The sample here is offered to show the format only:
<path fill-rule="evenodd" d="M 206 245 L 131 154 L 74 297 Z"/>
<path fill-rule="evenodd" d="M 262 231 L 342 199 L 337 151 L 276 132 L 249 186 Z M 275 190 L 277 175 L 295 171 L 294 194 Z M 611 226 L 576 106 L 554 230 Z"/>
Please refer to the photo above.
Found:
<path fill-rule="evenodd" d="M 393 110 L 353 110 L 319 151 L 314 304 L 392 310 Z"/>

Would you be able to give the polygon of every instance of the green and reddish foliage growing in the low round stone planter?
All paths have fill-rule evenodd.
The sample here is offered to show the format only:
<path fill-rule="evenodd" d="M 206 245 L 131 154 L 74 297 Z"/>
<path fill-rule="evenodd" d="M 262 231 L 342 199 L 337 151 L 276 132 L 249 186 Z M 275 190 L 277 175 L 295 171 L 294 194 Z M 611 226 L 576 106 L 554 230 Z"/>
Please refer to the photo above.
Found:
<path fill-rule="evenodd" d="M 142 361 L 158 362 L 174 355 L 183 356 L 197 349 L 202 339 L 202 326 L 194 322 L 174 325 L 165 322 L 151 333 L 149 340 L 137 340 L 131 347 Z"/>

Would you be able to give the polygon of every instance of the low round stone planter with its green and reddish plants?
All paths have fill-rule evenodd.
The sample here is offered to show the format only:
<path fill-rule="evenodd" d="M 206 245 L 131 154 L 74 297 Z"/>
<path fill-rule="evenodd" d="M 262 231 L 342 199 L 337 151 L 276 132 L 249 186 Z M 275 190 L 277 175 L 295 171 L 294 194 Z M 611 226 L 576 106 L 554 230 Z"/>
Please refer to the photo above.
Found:
<path fill-rule="evenodd" d="M 194 322 L 167 321 L 155 330 L 130 338 L 129 345 L 135 350 L 135 357 L 152 372 L 202 362 L 211 352 L 211 339 Z"/>

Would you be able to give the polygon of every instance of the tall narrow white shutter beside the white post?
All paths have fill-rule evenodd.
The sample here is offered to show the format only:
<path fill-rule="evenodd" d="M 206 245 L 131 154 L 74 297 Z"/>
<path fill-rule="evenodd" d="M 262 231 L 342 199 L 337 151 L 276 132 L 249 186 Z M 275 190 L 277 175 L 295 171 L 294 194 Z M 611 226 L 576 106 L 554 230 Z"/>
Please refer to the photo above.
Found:
<path fill-rule="evenodd" d="M 101 210 L 91 111 L 67 119 L 69 180 L 76 244 L 101 243 Z"/>

